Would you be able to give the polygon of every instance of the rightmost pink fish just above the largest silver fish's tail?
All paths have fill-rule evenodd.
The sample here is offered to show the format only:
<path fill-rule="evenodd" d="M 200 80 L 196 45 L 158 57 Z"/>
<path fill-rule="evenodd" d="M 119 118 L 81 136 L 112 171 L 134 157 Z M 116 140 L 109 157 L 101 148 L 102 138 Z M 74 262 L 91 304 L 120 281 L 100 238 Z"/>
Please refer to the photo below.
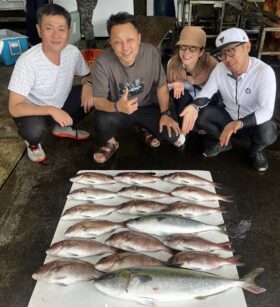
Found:
<path fill-rule="evenodd" d="M 228 258 L 204 252 L 179 252 L 168 259 L 168 263 L 181 268 L 192 269 L 197 271 L 209 271 L 219 269 L 225 265 L 242 266 L 244 263 L 239 262 L 240 256 Z"/>

